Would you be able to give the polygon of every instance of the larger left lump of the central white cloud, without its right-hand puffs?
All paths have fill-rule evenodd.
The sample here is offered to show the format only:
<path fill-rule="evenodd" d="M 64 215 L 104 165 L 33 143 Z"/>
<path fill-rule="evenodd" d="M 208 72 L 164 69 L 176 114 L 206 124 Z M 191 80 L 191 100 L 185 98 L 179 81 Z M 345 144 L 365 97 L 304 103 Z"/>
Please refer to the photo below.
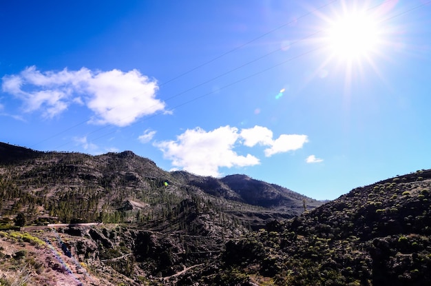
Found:
<path fill-rule="evenodd" d="M 219 167 L 245 167 L 257 165 L 259 159 L 251 154 L 240 156 L 233 147 L 240 135 L 238 128 L 229 125 L 206 132 L 197 127 L 186 130 L 176 141 L 154 143 L 174 167 L 194 174 L 220 176 Z"/>

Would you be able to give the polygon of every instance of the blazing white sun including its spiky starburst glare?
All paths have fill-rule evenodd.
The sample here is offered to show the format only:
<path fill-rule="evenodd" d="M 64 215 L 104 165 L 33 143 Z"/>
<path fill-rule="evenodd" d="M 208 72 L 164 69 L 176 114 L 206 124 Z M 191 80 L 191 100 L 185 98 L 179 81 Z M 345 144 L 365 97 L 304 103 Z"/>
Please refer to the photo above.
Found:
<path fill-rule="evenodd" d="M 317 13 L 322 19 L 319 26 L 322 33 L 315 38 L 323 61 L 316 68 L 316 74 L 341 74 L 346 91 L 353 81 L 364 81 L 373 72 L 382 78 L 379 66 L 381 59 L 388 60 L 388 48 L 395 30 L 388 23 L 388 13 L 397 1 L 385 1 L 370 6 L 364 0 L 340 0 L 331 12 Z"/>

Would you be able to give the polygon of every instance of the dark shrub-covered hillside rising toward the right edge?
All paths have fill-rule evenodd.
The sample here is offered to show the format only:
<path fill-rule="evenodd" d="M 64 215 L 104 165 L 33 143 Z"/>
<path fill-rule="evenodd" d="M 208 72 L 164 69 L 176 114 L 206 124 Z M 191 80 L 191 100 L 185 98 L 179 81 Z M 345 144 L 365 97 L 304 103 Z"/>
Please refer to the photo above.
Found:
<path fill-rule="evenodd" d="M 431 170 L 359 187 L 229 241 L 177 285 L 430 285 L 430 202 Z"/>

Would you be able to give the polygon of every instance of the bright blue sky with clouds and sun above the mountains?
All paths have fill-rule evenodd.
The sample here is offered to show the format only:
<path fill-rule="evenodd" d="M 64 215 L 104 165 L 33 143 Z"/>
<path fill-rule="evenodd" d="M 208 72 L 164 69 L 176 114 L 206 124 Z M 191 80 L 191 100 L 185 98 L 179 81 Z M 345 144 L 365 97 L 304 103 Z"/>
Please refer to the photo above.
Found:
<path fill-rule="evenodd" d="M 1 1 L 0 141 L 318 199 L 431 167 L 431 4 Z"/>

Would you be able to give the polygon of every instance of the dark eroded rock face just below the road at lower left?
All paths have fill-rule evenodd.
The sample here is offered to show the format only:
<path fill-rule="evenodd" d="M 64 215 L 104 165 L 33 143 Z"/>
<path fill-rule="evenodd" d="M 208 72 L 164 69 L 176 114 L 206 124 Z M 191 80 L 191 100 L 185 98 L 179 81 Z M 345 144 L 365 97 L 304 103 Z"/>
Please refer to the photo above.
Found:
<path fill-rule="evenodd" d="M 165 277 L 202 264 L 220 253 L 218 236 L 166 234 L 129 227 L 63 227 L 46 234 L 51 245 L 77 264 L 108 267 L 131 277 Z M 51 263 L 50 268 L 61 272 Z M 60 265 L 61 266 L 61 265 Z M 82 269 L 81 269 L 82 270 Z"/>

